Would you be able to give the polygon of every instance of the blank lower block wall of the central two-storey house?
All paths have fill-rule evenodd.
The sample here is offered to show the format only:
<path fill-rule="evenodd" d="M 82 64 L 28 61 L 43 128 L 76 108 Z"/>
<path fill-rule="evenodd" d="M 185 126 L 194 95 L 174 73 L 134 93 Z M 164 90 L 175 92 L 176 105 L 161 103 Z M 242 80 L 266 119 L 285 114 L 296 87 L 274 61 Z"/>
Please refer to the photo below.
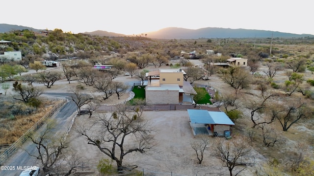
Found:
<path fill-rule="evenodd" d="M 178 90 L 146 90 L 147 104 L 179 104 Z"/>

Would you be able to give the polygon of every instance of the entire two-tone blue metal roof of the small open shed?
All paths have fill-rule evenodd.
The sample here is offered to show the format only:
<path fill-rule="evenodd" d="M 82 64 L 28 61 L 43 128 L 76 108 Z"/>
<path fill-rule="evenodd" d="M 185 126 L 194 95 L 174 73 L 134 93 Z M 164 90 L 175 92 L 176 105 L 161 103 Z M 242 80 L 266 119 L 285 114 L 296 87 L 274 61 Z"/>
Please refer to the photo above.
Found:
<path fill-rule="evenodd" d="M 208 110 L 187 110 L 187 112 L 192 124 L 235 125 L 225 112 Z"/>

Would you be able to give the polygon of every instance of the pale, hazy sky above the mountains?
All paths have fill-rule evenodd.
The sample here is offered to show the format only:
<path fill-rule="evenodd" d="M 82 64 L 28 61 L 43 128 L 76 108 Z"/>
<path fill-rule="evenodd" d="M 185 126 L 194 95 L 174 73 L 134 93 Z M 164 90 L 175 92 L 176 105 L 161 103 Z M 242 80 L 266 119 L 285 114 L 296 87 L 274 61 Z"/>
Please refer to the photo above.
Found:
<path fill-rule="evenodd" d="M 14 2 L 14 3 L 12 3 Z M 125 35 L 166 27 L 221 27 L 313 34 L 309 0 L 4 0 L 0 23 Z"/>

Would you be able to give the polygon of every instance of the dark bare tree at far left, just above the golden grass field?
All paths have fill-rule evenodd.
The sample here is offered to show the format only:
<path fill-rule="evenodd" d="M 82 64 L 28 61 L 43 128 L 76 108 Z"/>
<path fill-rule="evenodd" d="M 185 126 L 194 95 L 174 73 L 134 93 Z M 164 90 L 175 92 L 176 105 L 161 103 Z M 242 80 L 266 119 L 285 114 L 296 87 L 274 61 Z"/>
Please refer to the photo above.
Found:
<path fill-rule="evenodd" d="M 13 87 L 14 87 L 14 85 L 13 85 Z M 43 91 L 39 88 L 36 88 L 34 86 L 22 85 L 21 83 L 16 84 L 15 91 L 17 91 L 19 93 L 21 98 L 16 98 L 16 97 L 13 97 L 13 98 L 16 100 L 24 101 L 25 103 L 28 103 L 28 101 L 33 99 L 33 98 L 39 97 L 43 93 Z"/>

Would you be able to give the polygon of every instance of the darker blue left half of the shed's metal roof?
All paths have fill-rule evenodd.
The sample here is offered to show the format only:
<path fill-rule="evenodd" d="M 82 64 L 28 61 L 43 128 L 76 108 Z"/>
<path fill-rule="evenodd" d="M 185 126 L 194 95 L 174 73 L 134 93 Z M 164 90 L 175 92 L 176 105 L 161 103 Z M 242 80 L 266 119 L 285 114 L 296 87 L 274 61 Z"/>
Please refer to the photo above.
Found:
<path fill-rule="evenodd" d="M 192 124 L 214 124 L 208 110 L 187 110 Z"/>

